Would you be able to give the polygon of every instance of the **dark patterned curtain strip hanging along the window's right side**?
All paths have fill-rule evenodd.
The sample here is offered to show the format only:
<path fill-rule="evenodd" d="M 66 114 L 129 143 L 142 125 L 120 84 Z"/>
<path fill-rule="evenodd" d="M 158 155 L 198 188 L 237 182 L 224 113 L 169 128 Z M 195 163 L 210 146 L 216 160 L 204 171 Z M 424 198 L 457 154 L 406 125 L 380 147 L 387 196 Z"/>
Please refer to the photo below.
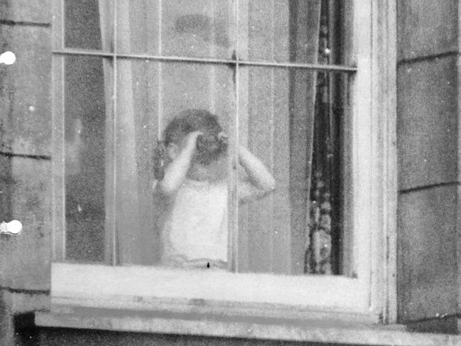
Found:
<path fill-rule="evenodd" d="M 330 18 L 329 6 L 331 1 L 321 0 L 319 9 L 318 58 L 319 64 L 329 64 L 330 51 Z M 334 176 L 338 166 L 333 163 L 336 152 L 331 136 L 334 134 L 334 106 L 331 96 L 331 82 L 334 78 L 327 72 L 318 72 L 316 82 L 316 97 L 313 123 L 313 153 L 311 155 L 311 186 L 309 186 L 310 205 L 307 209 L 309 228 L 306 242 L 306 274 L 333 274 L 333 256 L 337 260 L 338 253 L 333 254 L 333 204 Z M 338 235 L 336 235 L 338 237 Z M 339 252 L 337 247 L 334 249 Z M 337 265 L 337 264 L 336 264 Z"/>

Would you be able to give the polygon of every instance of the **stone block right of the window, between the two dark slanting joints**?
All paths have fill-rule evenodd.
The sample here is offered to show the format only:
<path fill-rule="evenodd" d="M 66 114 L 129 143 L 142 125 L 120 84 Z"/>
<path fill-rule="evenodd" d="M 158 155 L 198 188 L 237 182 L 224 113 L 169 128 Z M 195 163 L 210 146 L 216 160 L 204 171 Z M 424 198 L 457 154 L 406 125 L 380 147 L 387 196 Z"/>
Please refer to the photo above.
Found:
<path fill-rule="evenodd" d="M 399 65 L 399 189 L 458 179 L 457 57 Z"/>

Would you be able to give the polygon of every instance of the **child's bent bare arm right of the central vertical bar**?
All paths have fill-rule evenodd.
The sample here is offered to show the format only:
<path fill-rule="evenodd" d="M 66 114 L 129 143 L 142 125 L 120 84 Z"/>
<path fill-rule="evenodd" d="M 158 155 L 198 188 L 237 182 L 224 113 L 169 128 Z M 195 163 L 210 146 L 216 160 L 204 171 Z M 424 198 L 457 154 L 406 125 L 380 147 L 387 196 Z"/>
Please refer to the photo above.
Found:
<path fill-rule="evenodd" d="M 248 175 L 248 180 L 239 182 L 240 201 L 260 199 L 274 191 L 275 179 L 271 172 L 245 147 L 238 148 L 238 161 Z"/>

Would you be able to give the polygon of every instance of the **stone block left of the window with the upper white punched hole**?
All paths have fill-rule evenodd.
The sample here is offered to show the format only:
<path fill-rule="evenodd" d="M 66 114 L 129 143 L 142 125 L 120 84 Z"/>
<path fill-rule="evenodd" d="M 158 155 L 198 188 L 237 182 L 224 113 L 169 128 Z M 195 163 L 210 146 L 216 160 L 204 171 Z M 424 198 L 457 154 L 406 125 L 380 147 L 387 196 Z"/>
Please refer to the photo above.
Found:
<path fill-rule="evenodd" d="M 3 50 L 16 54 L 0 65 L 0 150 L 50 155 L 51 30 L 0 25 Z"/>

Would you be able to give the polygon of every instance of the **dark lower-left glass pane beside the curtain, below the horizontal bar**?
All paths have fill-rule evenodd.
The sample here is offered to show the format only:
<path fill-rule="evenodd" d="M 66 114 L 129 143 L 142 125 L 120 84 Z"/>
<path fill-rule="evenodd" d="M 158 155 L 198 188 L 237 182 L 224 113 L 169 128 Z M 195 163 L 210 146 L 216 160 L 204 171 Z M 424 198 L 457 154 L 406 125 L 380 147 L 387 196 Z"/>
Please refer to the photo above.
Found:
<path fill-rule="evenodd" d="M 103 60 L 65 60 L 67 259 L 104 259 L 106 105 Z"/>

